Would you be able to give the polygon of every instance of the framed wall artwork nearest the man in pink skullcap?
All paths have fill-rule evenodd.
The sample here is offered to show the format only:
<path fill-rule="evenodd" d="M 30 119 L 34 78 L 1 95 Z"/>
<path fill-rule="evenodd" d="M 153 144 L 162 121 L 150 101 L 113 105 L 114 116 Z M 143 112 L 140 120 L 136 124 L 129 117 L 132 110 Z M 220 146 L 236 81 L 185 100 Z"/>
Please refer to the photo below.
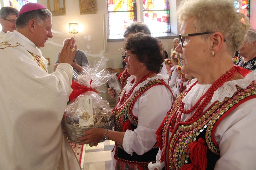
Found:
<path fill-rule="evenodd" d="M 47 0 L 47 9 L 53 16 L 66 15 L 65 0 Z"/>

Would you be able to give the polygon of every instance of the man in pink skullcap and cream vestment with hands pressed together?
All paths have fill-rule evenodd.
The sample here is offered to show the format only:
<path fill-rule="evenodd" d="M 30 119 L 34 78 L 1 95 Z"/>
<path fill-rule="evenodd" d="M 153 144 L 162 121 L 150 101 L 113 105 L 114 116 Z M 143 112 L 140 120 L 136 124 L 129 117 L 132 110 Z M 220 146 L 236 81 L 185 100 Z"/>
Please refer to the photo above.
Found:
<path fill-rule="evenodd" d="M 0 169 L 80 170 L 61 127 L 72 92 L 75 40 L 64 44 L 60 64 L 48 74 L 38 48 L 53 37 L 51 11 L 26 3 L 16 28 L 0 46 Z"/>

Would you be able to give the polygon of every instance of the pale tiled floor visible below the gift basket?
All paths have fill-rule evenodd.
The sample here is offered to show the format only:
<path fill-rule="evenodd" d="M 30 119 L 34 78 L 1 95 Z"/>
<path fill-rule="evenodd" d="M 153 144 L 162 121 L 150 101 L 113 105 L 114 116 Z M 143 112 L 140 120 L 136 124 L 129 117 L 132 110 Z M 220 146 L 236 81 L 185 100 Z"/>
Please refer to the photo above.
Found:
<path fill-rule="evenodd" d="M 115 142 L 105 140 L 98 146 L 84 145 L 81 167 L 83 170 L 109 170 L 111 165 L 111 151 Z"/>

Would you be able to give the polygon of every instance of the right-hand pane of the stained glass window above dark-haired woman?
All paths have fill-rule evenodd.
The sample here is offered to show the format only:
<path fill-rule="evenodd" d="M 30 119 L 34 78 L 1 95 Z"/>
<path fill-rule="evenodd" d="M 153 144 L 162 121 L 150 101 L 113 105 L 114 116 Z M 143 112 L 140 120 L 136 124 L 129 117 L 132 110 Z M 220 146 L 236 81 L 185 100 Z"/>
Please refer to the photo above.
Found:
<path fill-rule="evenodd" d="M 151 33 L 171 32 L 169 0 L 143 0 L 143 15 Z"/>

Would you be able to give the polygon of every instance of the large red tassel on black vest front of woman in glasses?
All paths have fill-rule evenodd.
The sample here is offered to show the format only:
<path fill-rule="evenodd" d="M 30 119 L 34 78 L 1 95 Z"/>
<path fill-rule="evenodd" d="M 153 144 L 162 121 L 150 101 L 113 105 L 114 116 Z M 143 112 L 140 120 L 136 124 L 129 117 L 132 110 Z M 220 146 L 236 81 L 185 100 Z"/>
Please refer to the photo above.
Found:
<path fill-rule="evenodd" d="M 181 167 L 181 170 L 204 170 L 207 167 L 207 146 L 205 140 L 199 138 L 198 141 L 191 142 L 187 146 L 187 154 L 190 156 L 191 164 Z"/>

